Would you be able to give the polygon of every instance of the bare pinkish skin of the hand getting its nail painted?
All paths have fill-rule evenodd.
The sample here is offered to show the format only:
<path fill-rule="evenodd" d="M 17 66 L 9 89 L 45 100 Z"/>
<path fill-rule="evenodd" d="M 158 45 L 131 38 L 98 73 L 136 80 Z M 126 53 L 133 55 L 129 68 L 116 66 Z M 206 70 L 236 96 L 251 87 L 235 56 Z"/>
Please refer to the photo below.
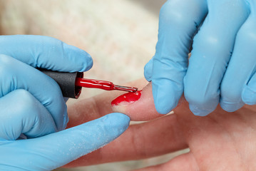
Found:
<path fill-rule="evenodd" d="M 146 82 L 141 80 L 132 83 L 132 86 L 142 88 L 145 84 Z M 140 171 L 256 170 L 255 106 L 245 105 L 233 113 L 227 113 L 218 106 L 210 115 L 199 117 L 190 112 L 188 103 L 183 98 L 173 114 L 160 117 L 163 115 L 157 113 L 152 105 L 151 92 L 149 84 L 143 89 L 137 102 L 115 108 L 111 108 L 111 100 L 120 93 L 114 92 L 103 93 L 69 106 L 68 127 L 106 115 L 113 112 L 113 109 L 115 112 L 126 113 L 131 120 L 150 121 L 130 125 L 120 138 L 69 163 L 66 167 L 139 160 L 189 147 L 188 153 Z"/>

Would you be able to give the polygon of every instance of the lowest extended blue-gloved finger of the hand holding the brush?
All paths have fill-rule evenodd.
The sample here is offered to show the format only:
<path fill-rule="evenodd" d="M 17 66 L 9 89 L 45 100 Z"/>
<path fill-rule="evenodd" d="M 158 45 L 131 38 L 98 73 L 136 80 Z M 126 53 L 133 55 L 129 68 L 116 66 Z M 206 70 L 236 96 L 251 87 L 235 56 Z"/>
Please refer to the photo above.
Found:
<path fill-rule="evenodd" d="M 0 170 L 53 170 L 118 138 L 129 122 L 127 115 L 111 113 L 41 138 L 4 143 L 0 151 L 8 155 L 0 155 Z"/>

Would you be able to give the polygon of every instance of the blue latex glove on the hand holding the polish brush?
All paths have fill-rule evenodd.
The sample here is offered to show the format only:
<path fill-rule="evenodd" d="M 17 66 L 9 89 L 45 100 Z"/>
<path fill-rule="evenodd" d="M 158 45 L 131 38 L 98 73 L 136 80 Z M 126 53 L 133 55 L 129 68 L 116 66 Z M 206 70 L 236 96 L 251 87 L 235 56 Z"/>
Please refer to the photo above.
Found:
<path fill-rule="evenodd" d="M 0 170 L 53 170 L 128 127 L 128 116 L 113 113 L 63 130 L 61 90 L 36 68 L 87 71 L 93 61 L 85 51 L 46 36 L 0 36 L 0 54 Z M 31 139 L 16 140 L 21 134 Z"/>

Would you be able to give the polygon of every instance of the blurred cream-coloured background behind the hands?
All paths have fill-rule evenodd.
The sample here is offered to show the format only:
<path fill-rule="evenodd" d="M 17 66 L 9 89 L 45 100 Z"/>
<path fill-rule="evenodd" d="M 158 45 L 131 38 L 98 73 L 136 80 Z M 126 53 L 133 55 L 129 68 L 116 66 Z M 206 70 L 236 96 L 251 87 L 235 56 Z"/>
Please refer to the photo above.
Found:
<path fill-rule="evenodd" d="M 158 13 L 164 0 L 0 0 L 1 34 L 35 34 L 58 38 L 93 57 L 86 78 L 122 85 L 143 77 L 145 63 L 155 53 Z M 83 89 L 82 98 L 103 90 Z M 76 100 L 68 100 L 68 105 Z M 58 171 L 123 171 L 155 165 L 177 155 L 147 160 L 59 168 Z"/>

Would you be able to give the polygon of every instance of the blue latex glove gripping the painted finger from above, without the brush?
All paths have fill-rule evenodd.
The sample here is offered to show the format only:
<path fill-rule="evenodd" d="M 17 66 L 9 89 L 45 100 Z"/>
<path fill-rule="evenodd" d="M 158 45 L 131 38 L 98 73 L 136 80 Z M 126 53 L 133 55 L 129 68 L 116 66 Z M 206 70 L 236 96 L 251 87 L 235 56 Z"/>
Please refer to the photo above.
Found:
<path fill-rule="evenodd" d="M 255 8 L 243 0 L 164 4 L 155 56 L 145 66 L 159 113 L 175 108 L 183 90 L 195 115 L 208 115 L 218 103 L 228 112 L 256 104 Z"/>

